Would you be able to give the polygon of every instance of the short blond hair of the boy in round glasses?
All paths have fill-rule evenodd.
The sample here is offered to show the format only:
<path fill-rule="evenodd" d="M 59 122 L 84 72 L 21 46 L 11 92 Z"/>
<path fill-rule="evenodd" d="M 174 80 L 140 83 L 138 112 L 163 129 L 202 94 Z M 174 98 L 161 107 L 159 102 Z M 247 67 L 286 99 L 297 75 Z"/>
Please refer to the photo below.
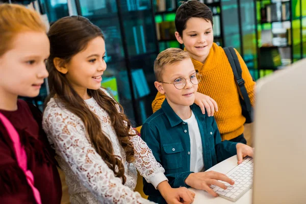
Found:
<path fill-rule="evenodd" d="M 180 48 L 168 48 L 161 52 L 156 60 L 154 61 L 154 73 L 158 82 L 162 81 L 164 68 L 168 64 L 183 61 L 184 59 L 190 58 L 188 52 Z"/>

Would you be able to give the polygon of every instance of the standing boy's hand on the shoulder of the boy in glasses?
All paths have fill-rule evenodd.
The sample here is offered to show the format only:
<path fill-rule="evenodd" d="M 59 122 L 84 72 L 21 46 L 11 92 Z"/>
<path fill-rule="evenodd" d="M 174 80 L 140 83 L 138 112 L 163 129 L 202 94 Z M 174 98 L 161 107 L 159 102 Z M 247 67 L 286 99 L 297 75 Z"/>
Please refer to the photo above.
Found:
<path fill-rule="evenodd" d="M 205 114 L 205 109 L 208 116 L 214 116 L 215 111 L 218 112 L 216 101 L 208 95 L 196 92 L 194 103 L 201 108 L 202 114 Z"/>

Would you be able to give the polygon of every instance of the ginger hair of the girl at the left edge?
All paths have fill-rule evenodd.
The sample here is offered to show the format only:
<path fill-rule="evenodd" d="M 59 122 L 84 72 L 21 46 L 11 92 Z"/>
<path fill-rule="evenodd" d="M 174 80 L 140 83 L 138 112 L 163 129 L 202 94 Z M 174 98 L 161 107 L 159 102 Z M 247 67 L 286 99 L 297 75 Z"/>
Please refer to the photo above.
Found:
<path fill-rule="evenodd" d="M 0 5 L 0 57 L 11 49 L 17 34 L 28 31 L 46 32 L 37 12 L 16 4 Z"/>

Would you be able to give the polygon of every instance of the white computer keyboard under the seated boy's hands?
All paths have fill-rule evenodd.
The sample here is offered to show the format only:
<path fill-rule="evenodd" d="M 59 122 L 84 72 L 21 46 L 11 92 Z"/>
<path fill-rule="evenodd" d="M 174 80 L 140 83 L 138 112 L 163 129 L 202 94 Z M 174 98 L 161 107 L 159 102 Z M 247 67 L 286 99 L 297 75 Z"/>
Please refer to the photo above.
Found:
<path fill-rule="evenodd" d="M 231 171 L 226 173 L 230 179 L 235 181 L 235 184 L 232 186 L 226 182 L 219 181 L 227 189 L 222 189 L 218 186 L 211 185 L 210 187 L 219 194 L 220 197 L 236 202 L 244 193 L 246 193 L 253 184 L 253 159 L 247 157 L 243 160 L 241 164 L 233 168 Z"/>

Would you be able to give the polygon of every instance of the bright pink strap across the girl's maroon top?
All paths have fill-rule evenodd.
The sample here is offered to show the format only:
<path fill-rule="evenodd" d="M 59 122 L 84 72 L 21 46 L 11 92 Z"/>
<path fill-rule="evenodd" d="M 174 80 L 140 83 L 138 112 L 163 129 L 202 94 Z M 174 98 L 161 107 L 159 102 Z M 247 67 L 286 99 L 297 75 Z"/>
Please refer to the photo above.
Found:
<path fill-rule="evenodd" d="M 14 152 L 17 159 L 18 166 L 24 172 L 24 175 L 27 179 L 28 184 L 30 185 L 31 189 L 33 190 L 33 194 L 35 200 L 38 204 L 41 204 L 40 194 L 39 191 L 34 187 L 34 176 L 30 170 L 28 170 L 27 164 L 27 154 L 25 154 L 24 148 L 21 146 L 20 138 L 15 130 L 12 123 L 2 114 L 0 113 L 0 121 L 4 124 L 14 146 Z"/>

